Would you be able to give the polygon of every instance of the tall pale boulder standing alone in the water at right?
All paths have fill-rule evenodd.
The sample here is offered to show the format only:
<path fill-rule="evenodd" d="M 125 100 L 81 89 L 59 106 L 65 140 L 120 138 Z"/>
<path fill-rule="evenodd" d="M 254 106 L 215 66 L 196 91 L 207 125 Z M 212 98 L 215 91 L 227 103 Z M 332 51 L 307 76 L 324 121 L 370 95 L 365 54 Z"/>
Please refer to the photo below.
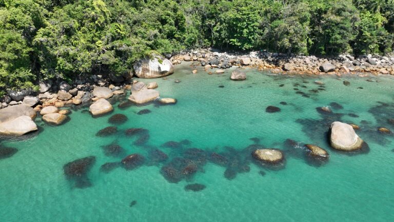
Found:
<path fill-rule="evenodd" d="M 330 142 L 334 149 L 342 151 L 358 150 L 363 144 L 351 125 L 338 121 L 331 123 Z"/>

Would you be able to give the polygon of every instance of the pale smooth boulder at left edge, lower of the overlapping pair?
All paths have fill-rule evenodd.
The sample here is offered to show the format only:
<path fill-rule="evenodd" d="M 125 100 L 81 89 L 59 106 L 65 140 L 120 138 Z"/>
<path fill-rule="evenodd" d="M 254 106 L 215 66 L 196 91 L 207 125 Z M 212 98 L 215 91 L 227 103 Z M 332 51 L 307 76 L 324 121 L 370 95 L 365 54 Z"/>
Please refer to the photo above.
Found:
<path fill-rule="evenodd" d="M 19 116 L 7 122 L 0 123 L 0 134 L 21 136 L 36 131 L 37 125 L 29 116 Z"/>

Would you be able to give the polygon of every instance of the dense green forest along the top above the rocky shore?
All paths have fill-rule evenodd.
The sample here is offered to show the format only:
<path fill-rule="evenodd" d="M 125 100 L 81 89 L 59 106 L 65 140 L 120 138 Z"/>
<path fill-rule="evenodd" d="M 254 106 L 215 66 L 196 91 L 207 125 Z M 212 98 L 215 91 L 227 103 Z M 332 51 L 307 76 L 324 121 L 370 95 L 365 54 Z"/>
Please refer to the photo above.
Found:
<path fill-rule="evenodd" d="M 0 0 L 0 91 L 124 73 L 152 52 L 387 53 L 394 0 Z"/>

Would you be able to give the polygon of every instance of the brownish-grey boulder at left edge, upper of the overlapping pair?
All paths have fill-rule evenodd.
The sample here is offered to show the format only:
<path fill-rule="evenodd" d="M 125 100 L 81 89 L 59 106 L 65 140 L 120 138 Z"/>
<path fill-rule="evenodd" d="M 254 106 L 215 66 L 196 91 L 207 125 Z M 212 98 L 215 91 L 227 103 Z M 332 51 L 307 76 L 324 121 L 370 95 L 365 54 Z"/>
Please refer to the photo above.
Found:
<path fill-rule="evenodd" d="M 0 123 L 7 122 L 20 116 L 28 116 L 31 119 L 36 117 L 37 113 L 34 109 L 27 105 L 13 105 L 0 109 Z"/>

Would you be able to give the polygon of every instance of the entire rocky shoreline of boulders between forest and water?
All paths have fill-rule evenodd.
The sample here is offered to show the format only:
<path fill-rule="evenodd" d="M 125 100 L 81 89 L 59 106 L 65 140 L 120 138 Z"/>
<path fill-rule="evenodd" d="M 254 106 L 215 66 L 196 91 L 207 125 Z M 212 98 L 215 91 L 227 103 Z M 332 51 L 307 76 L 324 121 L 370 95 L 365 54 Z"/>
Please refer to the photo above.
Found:
<path fill-rule="evenodd" d="M 121 76 L 103 74 L 92 75 L 88 78 L 79 77 L 71 84 L 49 80 L 40 82 L 39 93 L 32 90 L 9 91 L 8 95 L 0 98 L 0 108 L 23 104 L 32 107 L 35 112 L 41 112 L 48 106 L 60 108 L 67 105 L 93 103 L 90 108 L 93 116 L 105 114 L 113 109 L 105 100 L 114 95 L 124 95 L 127 90 L 131 91 L 129 100 L 133 103 L 141 104 L 159 98 L 159 91 L 155 90 L 157 83 L 150 81 L 145 84 L 133 80 L 133 77 L 145 79 L 165 77 L 174 72 L 174 65 L 181 64 L 183 61 L 191 62 L 191 67 L 194 68 L 203 66 L 208 74 L 220 74 L 224 72 L 224 69 L 231 67 L 251 67 L 274 73 L 298 75 L 354 74 L 360 77 L 366 77 L 367 73 L 368 75 L 369 73 L 394 75 L 394 58 L 372 57 L 370 54 L 359 58 L 340 55 L 338 58 L 327 59 L 313 55 L 287 57 L 286 54 L 263 51 L 221 53 L 210 49 L 198 49 L 181 52 L 169 59 L 155 54 L 152 58 L 136 62 L 133 66 L 135 71 Z M 191 72 L 195 73 L 197 70 L 194 69 Z M 235 69 L 230 79 L 245 80 L 245 72 L 242 69 Z M 176 100 L 161 98 L 159 102 L 176 103 Z M 60 124 L 66 119 L 64 113 L 60 114 L 50 115 L 51 120 L 49 116 L 45 119 L 48 120 L 47 122 Z"/>

